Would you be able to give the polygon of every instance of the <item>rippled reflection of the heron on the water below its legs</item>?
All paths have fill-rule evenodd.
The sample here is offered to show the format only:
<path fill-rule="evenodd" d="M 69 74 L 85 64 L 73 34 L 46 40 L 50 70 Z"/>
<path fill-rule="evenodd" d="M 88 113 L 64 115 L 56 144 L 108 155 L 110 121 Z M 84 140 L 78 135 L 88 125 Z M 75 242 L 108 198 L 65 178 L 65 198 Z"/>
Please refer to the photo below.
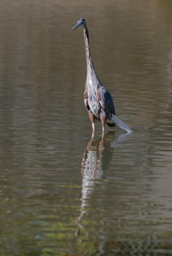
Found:
<path fill-rule="evenodd" d="M 99 140 L 90 140 L 86 149 L 84 150 L 82 163 L 81 163 L 81 175 L 82 175 L 82 197 L 80 215 L 77 218 L 77 231 L 76 236 L 80 235 L 82 228 L 81 221 L 86 213 L 85 208 L 88 204 L 88 200 L 93 193 L 95 181 L 102 178 L 104 170 L 106 170 L 111 164 L 113 157 L 113 149 L 118 147 L 120 141 L 127 140 L 131 133 L 118 136 L 115 140 L 115 132 L 107 132 L 104 138 Z"/>

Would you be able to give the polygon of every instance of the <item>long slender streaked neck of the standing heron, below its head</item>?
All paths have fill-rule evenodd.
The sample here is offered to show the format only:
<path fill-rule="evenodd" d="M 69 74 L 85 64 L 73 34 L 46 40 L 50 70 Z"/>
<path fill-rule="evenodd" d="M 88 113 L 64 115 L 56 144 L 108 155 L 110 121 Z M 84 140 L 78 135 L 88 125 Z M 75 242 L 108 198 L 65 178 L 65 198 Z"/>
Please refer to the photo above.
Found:
<path fill-rule="evenodd" d="M 90 51 L 90 43 L 89 43 L 89 35 L 88 35 L 88 28 L 86 25 L 84 26 L 84 43 L 85 43 L 85 51 L 86 51 L 86 64 L 87 64 L 87 76 L 95 73 L 95 68 L 93 67 L 93 61 L 91 58 L 91 51 Z"/>

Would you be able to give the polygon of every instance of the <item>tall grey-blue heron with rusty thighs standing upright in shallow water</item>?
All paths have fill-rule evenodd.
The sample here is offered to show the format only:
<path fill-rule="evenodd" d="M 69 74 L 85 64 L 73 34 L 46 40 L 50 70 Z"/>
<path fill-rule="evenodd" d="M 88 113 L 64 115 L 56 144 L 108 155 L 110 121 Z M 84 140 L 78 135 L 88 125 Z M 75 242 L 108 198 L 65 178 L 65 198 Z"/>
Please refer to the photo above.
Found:
<path fill-rule="evenodd" d="M 87 76 L 86 76 L 86 88 L 84 91 L 84 104 L 90 116 L 91 124 L 93 127 L 93 133 L 91 138 L 95 136 L 95 118 L 102 122 L 102 138 L 104 137 L 104 126 L 107 123 L 110 127 L 118 125 L 121 129 L 127 132 L 132 130 L 121 120 L 115 116 L 114 104 L 111 94 L 100 83 L 98 76 L 93 66 L 91 59 L 90 43 L 88 36 L 88 28 L 86 26 L 86 20 L 80 18 L 75 24 L 74 28 L 83 27 L 84 31 L 84 43 L 86 51 L 86 63 L 87 63 Z"/>

